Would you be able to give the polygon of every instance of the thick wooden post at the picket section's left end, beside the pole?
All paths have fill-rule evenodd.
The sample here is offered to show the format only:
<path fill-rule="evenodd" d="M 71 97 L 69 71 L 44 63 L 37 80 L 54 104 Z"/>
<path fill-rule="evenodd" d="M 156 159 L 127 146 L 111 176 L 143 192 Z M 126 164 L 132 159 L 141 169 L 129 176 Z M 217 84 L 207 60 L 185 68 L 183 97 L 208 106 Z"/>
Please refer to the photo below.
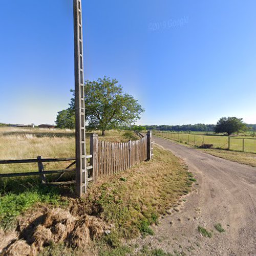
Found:
<path fill-rule="evenodd" d="M 98 134 L 92 133 L 90 136 L 90 155 L 93 157 L 90 159 L 90 165 L 93 166 L 93 182 L 98 180 L 98 155 L 99 155 L 99 140 Z"/>

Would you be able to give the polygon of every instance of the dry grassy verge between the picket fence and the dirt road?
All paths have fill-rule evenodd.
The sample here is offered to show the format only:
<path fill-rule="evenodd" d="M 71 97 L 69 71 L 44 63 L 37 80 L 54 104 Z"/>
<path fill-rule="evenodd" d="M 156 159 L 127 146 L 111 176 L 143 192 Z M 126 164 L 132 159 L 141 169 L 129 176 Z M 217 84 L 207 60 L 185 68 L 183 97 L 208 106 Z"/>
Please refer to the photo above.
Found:
<path fill-rule="evenodd" d="M 190 178 L 179 158 L 155 146 L 152 161 L 93 185 L 84 207 L 114 225 L 105 240 L 113 249 L 122 239 L 153 234 L 151 224 L 190 191 Z"/>

